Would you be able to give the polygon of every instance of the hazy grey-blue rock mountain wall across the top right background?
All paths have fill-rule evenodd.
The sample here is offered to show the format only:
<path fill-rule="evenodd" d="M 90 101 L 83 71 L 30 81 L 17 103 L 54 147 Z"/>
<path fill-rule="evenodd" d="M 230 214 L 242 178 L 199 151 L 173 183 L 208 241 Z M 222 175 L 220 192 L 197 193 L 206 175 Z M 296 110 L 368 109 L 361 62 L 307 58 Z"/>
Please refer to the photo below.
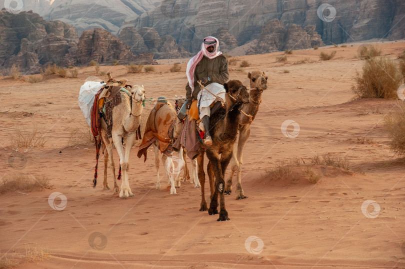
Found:
<path fill-rule="evenodd" d="M 228 29 L 225 34 L 234 36 L 239 46 L 258 39 L 263 26 L 271 19 L 278 19 L 287 34 L 294 29 L 301 31 L 297 26 L 305 29 L 314 25 L 314 31 L 325 44 L 405 38 L 405 23 L 400 22 L 405 14 L 403 0 L 328 0 L 331 8 L 322 8 L 322 3 L 325 1 L 163 0 L 151 11 L 128 17 L 122 27 L 153 27 L 161 36 L 173 36 L 191 52 L 199 49 L 202 38 L 223 27 Z M 288 28 L 292 24 L 297 26 Z"/>

